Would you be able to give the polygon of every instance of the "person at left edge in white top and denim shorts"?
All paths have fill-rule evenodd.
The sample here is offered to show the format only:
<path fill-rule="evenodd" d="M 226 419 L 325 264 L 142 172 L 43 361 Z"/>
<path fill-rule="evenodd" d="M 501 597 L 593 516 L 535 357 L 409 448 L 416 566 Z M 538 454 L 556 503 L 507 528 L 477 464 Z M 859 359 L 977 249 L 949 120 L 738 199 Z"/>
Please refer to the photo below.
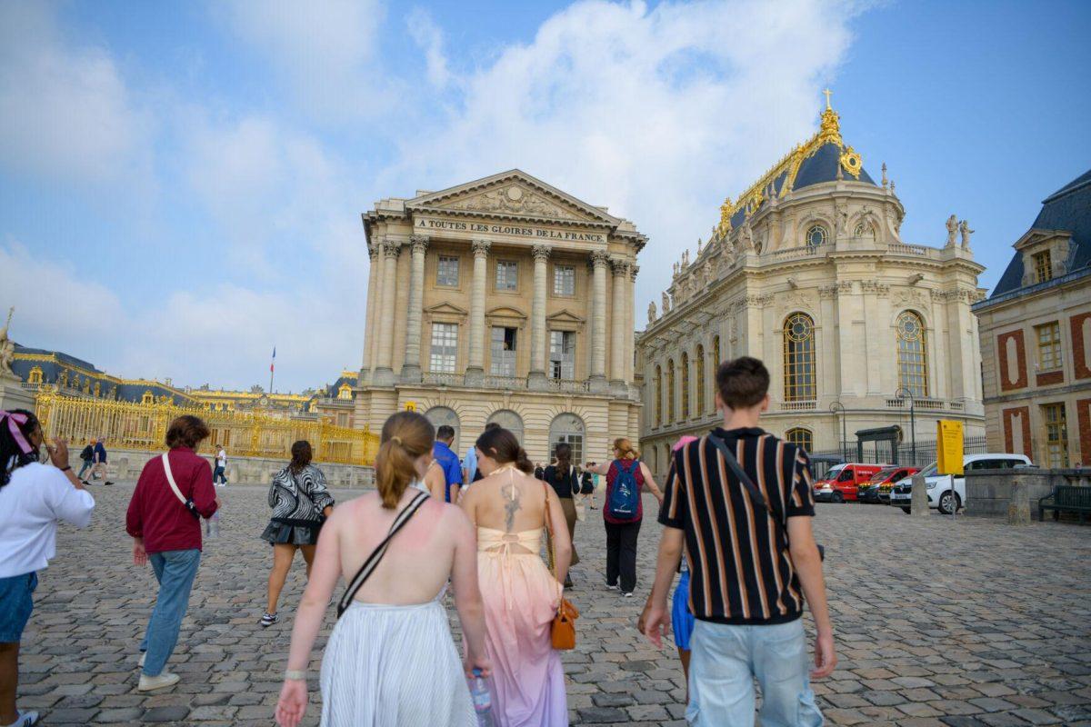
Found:
<path fill-rule="evenodd" d="M 57 555 L 59 521 L 86 528 L 95 509 L 69 467 L 68 441 L 48 447 L 51 464 L 38 462 L 45 440 L 37 416 L 0 411 L 0 725 L 29 727 L 36 712 L 15 706 L 19 647 L 34 610 L 37 572 Z"/>

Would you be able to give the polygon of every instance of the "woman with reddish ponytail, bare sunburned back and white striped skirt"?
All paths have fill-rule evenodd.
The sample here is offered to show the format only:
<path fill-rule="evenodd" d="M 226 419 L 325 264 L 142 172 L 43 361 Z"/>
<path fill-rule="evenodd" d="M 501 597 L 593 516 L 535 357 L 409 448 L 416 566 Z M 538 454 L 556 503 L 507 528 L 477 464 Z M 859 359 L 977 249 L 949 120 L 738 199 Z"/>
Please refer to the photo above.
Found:
<path fill-rule="evenodd" d="M 276 707 L 283 727 L 303 718 L 311 647 L 340 577 L 348 587 L 319 680 L 323 727 L 476 727 L 466 679 L 475 669 L 489 676 L 491 663 L 473 529 L 457 507 L 413 486 L 432 460 L 434 436 L 416 412 L 386 420 L 376 492 L 339 505 L 322 529 Z M 463 628 L 461 664 L 443 606 L 448 579 Z"/>

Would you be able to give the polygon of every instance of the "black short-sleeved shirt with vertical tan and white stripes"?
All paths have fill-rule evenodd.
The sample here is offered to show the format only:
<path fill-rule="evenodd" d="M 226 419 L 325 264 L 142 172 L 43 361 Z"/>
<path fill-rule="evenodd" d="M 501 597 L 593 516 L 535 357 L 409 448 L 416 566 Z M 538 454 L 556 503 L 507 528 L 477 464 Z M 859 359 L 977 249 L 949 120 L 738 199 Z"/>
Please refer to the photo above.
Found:
<path fill-rule="evenodd" d="M 787 524 L 814 516 L 811 462 L 802 448 L 759 428 L 714 429 L 735 452 L 769 510 L 755 507 L 723 456 L 702 437 L 674 452 L 659 522 L 685 533 L 690 609 L 717 623 L 792 621 L 803 592 L 788 553 Z"/>

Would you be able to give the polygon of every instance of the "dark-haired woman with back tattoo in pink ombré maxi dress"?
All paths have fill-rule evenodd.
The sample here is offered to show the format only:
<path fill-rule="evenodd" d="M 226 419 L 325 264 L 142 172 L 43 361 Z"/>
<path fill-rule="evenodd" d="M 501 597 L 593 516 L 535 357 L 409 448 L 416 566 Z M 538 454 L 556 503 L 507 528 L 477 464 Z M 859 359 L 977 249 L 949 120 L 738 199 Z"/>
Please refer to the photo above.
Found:
<path fill-rule="evenodd" d="M 560 526 L 564 510 L 553 488 L 532 476 L 533 465 L 514 434 L 488 429 L 476 447 L 483 476 L 461 507 L 477 528 L 496 724 L 563 727 L 568 707 L 551 628 L 572 556 L 568 531 Z M 555 578 L 540 556 L 547 519 L 554 534 Z"/>

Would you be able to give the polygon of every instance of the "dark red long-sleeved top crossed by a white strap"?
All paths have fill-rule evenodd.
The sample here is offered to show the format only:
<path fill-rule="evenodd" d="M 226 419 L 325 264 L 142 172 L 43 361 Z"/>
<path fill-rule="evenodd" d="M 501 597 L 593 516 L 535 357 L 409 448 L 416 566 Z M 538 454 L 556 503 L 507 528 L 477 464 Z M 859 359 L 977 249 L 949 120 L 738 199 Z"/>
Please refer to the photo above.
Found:
<path fill-rule="evenodd" d="M 208 462 L 187 447 L 171 449 L 169 458 L 178 489 L 193 500 L 202 517 L 211 518 L 217 506 Z M 148 553 L 201 549 L 201 521 L 170 488 L 161 457 L 148 460 L 140 473 L 125 514 L 125 531 L 143 537 Z"/>

